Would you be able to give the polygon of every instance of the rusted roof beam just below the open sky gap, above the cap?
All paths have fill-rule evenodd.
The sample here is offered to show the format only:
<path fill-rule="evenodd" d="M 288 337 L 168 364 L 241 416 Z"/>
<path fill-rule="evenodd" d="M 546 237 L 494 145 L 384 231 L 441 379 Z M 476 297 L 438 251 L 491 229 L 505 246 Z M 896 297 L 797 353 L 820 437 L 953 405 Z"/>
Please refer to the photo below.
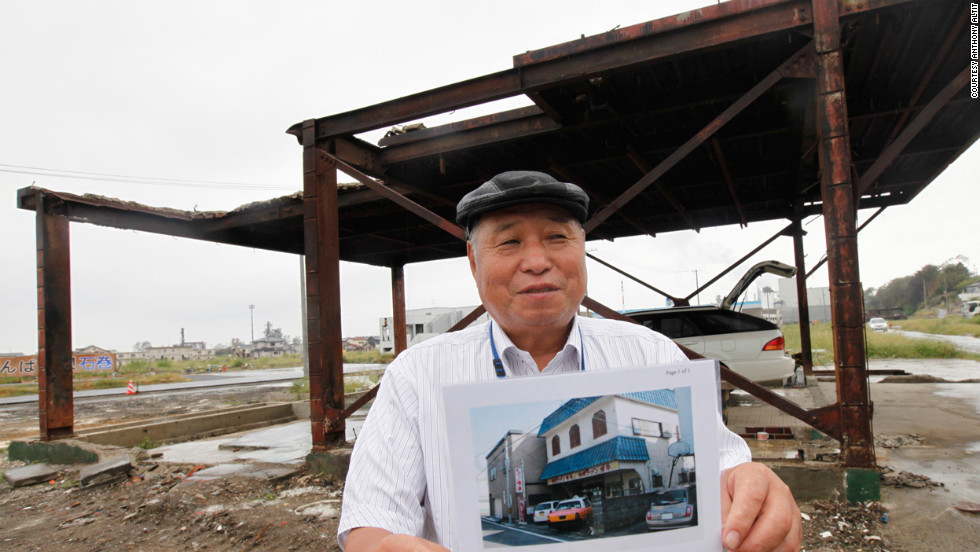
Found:
<path fill-rule="evenodd" d="M 533 117 L 488 124 L 452 134 L 440 134 L 432 138 L 389 146 L 381 151 L 380 160 L 383 165 L 392 165 L 440 153 L 496 144 L 556 130 L 561 130 L 560 124 L 552 121 L 547 115 L 538 114 Z"/>

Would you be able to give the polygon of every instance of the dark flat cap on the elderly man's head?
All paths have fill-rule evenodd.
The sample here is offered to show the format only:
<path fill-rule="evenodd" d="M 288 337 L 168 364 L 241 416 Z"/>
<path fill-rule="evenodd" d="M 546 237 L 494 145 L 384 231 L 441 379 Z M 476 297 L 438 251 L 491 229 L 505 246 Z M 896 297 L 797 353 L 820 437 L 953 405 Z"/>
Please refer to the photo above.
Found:
<path fill-rule="evenodd" d="M 480 215 L 524 203 L 551 203 L 568 209 L 584 223 L 589 196 L 575 184 L 559 182 L 535 171 L 507 171 L 463 196 L 456 205 L 456 223 L 470 229 Z"/>

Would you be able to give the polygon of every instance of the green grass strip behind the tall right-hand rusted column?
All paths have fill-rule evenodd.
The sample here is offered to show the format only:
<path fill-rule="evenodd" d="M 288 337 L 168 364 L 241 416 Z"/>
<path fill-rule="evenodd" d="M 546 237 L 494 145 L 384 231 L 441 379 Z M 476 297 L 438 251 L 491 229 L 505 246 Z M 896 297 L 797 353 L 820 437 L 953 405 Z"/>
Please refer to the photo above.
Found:
<path fill-rule="evenodd" d="M 905 322 L 905 321 L 903 321 Z M 800 346 L 799 324 L 782 327 L 786 336 L 786 350 L 798 352 Z M 814 364 L 830 365 L 834 361 L 834 338 L 830 324 L 810 326 L 810 345 L 814 350 Z M 892 332 L 867 333 L 868 358 L 965 358 L 980 360 L 980 355 L 957 349 L 953 344 L 936 339 L 916 339 Z M 817 351 L 818 349 L 822 351 Z"/>

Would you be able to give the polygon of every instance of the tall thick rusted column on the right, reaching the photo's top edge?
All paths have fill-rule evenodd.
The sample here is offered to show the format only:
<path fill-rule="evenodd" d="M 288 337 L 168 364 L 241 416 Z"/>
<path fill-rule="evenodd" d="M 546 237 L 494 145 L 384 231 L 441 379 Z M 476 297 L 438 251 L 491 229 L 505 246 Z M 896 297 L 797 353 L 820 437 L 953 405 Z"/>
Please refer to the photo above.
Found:
<path fill-rule="evenodd" d="M 813 27 L 820 183 L 840 404 L 841 461 L 845 467 L 874 468 L 871 401 L 864 356 L 863 290 L 858 274 L 855 228 L 857 202 L 851 180 L 851 145 L 836 0 L 813 0 Z"/>

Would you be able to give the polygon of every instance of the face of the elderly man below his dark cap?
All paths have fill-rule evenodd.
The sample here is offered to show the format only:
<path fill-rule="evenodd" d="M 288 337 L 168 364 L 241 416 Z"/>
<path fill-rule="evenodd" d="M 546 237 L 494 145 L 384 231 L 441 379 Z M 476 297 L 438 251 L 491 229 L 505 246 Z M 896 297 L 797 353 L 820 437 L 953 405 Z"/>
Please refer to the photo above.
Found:
<path fill-rule="evenodd" d="M 585 232 L 561 207 L 487 213 L 466 252 L 483 306 L 511 336 L 566 330 L 585 297 Z"/>

